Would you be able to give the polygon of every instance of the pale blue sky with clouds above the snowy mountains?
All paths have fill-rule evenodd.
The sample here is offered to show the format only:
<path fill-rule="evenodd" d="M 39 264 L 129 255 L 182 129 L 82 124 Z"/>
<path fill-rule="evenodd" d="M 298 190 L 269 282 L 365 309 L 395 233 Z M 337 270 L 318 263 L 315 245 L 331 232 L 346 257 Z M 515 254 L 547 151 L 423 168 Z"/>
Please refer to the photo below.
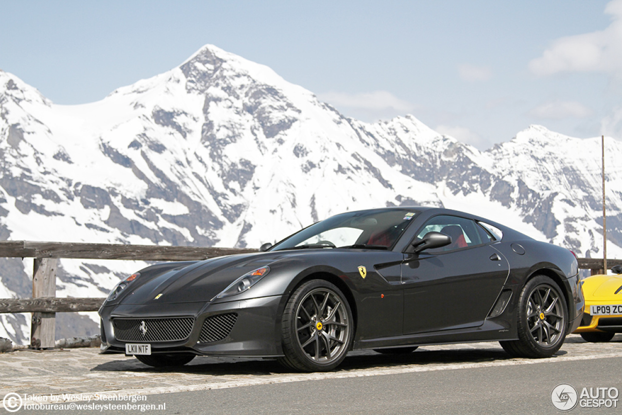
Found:
<path fill-rule="evenodd" d="M 529 124 L 622 139 L 622 0 L 6 1 L 0 69 L 101 100 L 204 44 L 342 113 L 413 114 L 480 149 Z"/>

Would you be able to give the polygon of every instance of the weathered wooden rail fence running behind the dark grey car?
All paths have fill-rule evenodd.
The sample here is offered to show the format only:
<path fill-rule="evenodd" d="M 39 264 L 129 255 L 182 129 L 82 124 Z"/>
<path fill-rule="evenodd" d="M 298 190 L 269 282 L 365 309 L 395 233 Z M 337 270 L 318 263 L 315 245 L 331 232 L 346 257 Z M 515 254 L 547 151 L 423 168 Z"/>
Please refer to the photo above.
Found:
<path fill-rule="evenodd" d="M 0 257 L 34 258 L 32 298 L 0 299 L 0 313 L 32 313 L 30 348 L 53 348 L 57 312 L 97 311 L 105 300 L 105 297 L 57 298 L 58 258 L 191 261 L 257 251 L 257 249 L 200 248 L 197 246 L 0 241 Z M 602 259 L 578 258 L 578 263 L 579 268 L 591 269 L 592 274 L 603 272 Z M 622 264 L 622 260 L 607 259 L 607 268 L 619 264 Z"/>

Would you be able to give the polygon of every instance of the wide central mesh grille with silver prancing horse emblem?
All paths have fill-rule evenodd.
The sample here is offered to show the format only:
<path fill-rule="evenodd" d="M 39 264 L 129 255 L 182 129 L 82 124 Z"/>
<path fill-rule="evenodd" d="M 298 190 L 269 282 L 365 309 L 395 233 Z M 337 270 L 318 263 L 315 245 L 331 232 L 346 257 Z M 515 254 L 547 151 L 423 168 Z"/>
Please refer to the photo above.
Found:
<path fill-rule="evenodd" d="M 190 336 L 193 317 L 113 319 L 114 337 L 121 342 L 179 342 Z"/>

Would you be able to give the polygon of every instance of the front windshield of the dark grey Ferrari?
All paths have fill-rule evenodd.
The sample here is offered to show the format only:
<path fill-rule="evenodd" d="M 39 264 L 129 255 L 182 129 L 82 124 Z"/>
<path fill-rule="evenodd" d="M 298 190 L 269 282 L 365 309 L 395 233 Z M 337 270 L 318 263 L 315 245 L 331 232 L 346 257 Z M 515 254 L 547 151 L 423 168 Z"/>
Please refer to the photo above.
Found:
<path fill-rule="evenodd" d="M 271 251 L 304 248 L 389 249 L 419 212 L 377 209 L 341 213 L 282 240 Z"/>

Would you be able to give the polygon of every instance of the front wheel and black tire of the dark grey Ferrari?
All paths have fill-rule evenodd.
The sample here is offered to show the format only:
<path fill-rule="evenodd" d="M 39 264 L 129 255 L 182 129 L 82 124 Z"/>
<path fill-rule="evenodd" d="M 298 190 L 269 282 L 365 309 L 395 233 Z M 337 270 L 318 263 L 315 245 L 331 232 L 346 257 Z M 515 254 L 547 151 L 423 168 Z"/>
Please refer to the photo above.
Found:
<path fill-rule="evenodd" d="M 304 282 L 285 304 L 282 365 L 299 371 L 328 371 L 345 359 L 353 342 L 354 319 L 346 297 L 322 279 Z"/>

